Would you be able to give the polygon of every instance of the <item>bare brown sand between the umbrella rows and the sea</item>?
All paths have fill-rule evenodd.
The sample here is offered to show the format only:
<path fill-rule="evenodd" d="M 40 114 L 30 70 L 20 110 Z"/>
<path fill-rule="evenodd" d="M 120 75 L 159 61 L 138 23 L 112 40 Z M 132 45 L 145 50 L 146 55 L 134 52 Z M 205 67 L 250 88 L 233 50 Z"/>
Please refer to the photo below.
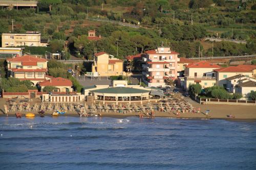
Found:
<path fill-rule="evenodd" d="M 200 113 L 180 113 L 180 115 L 175 115 L 174 113 L 160 112 L 155 111 L 156 117 L 170 117 L 170 118 L 216 118 L 216 119 L 244 119 L 244 120 L 253 120 L 256 121 L 256 106 L 244 106 L 244 105 L 200 105 L 195 101 L 189 100 L 189 102 L 196 108 L 200 108 Z M 4 104 L 7 104 L 6 100 L 0 100 L 0 116 L 15 116 L 16 112 L 4 113 Z M 209 116 L 206 117 L 205 111 L 209 111 Z M 37 112 L 26 112 L 23 111 L 23 117 L 26 113 L 34 113 L 36 116 L 39 116 Z M 51 116 L 52 112 L 46 111 L 46 116 Z M 129 117 L 129 116 L 138 116 L 139 113 L 116 113 L 116 112 L 97 112 L 95 114 L 101 115 L 101 117 Z M 232 114 L 234 118 L 229 118 L 228 115 Z M 90 115 L 90 114 L 89 114 Z M 80 114 L 77 112 L 67 112 L 65 114 L 59 114 L 59 116 L 75 116 L 80 117 Z M 90 115 L 91 116 L 91 115 Z M 150 117 L 148 114 L 143 114 L 143 117 Z"/>

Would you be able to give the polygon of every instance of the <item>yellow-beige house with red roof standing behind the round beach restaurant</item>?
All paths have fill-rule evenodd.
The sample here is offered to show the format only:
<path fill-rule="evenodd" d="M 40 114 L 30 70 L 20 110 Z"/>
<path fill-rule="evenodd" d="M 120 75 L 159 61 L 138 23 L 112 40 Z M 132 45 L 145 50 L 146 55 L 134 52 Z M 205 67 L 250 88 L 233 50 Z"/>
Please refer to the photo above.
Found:
<path fill-rule="evenodd" d="M 123 61 L 105 52 L 96 53 L 92 72 L 97 72 L 99 76 L 119 76 L 123 75 Z"/>

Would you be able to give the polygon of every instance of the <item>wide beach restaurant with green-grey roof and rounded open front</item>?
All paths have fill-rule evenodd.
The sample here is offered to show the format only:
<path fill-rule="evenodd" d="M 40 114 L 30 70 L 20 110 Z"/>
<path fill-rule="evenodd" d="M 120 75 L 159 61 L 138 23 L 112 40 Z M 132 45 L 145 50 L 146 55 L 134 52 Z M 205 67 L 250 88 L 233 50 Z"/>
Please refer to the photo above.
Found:
<path fill-rule="evenodd" d="M 105 103 L 143 103 L 150 100 L 160 100 L 164 94 L 161 90 L 127 85 L 127 81 L 113 81 L 112 86 L 92 86 L 84 88 L 87 99 L 91 96 L 94 102 Z"/>

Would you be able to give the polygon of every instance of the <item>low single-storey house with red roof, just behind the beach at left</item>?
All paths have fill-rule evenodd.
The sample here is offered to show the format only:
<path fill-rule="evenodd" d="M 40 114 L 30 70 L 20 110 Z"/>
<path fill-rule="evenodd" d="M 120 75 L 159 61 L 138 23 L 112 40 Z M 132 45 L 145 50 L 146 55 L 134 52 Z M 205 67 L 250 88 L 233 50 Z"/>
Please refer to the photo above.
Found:
<path fill-rule="evenodd" d="M 42 91 L 46 86 L 53 86 L 57 87 L 59 92 L 72 92 L 73 91 L 73 84 L 69 79 L 64 79 L 61 77 L 52 78 L 50 80 L 46 80 L 43 82 L 40 82 L 38 84 L 38 87 Z"/>

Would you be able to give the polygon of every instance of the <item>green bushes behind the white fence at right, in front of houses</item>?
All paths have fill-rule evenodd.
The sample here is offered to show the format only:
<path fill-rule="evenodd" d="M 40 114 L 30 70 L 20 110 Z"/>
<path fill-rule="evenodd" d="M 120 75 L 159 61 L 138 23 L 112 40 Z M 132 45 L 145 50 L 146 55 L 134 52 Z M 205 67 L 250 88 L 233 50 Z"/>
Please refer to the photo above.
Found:
<path fill-rule="evenodd" d="M 242 98 L 242 94 L 234 93 L 230 94 L 225 90 L 224 87 L 221 86 L 212 86 L 205 88 L 206 96 L 209 98 L 215 99 L 240 99 Z"/>

